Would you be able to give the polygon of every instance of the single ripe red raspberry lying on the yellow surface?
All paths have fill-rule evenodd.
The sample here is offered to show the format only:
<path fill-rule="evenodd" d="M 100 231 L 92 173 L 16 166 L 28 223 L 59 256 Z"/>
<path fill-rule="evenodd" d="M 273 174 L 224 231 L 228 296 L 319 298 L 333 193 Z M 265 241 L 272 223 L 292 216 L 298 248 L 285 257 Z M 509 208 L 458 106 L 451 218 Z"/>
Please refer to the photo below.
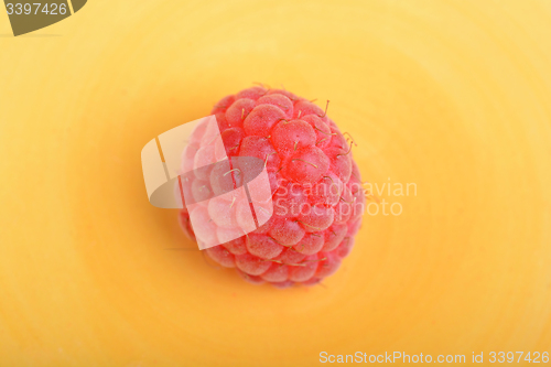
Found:
<path fill-rule="evenodd" d="M 191 191 L 197 204 L 179 214 L 184 231 L 222 242 L 206 253 L 255 284 L 313 285 L 337 271 L 353 248 L 365 205 L 354 141 L 326 109 L 283 89 L 244 89 L 220 99 L 212 115 L 222 139 L 212 125 L 198 126 L 182 153 L 182 171 L 197 169 L 186 175 L 193 183 L 184 192 Z M 222 161 L 226 156 L 263 162 L 272 215 L 256 207 L 253 217 L 247 197 L 230 193 L 259 170 L 255 162 Z M 202 226 L 192 228 L 191 219 Z M 242 235 L 241 228 L 252 231 Z"/>

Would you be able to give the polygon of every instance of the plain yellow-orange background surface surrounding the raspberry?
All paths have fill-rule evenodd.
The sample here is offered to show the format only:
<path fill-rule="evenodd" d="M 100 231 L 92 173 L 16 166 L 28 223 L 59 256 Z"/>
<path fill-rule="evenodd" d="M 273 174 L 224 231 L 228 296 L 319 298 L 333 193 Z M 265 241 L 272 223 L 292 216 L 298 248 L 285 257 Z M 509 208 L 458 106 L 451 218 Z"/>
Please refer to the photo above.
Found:
<path fill-rule="evenodd" d="M 551 352 L 551 2 L 91 0 L 17 39 L 0 13 L 1 366 Z M 325 287 L 245 283 L 148 203 L 141 148 L 253 82 L 417 184 Z"/>

